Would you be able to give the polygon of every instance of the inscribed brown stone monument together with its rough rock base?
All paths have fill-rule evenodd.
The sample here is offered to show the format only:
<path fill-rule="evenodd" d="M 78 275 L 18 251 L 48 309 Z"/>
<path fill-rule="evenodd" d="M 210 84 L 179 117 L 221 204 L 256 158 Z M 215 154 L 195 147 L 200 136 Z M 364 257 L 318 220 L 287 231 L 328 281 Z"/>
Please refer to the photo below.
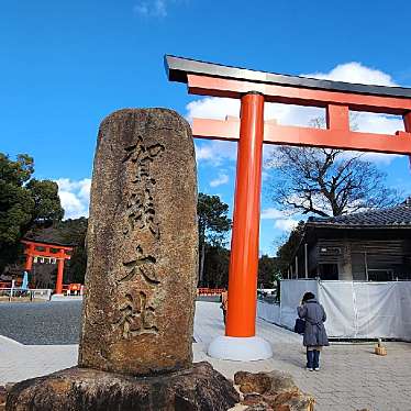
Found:
<path fill-rule="evenodd" d="M 233 385 L 192 364 L 197 174 L 188 123 L 120 110 L 100 126 L 78 367 L 22 381 L 7 410 L 226 410 Z"/>

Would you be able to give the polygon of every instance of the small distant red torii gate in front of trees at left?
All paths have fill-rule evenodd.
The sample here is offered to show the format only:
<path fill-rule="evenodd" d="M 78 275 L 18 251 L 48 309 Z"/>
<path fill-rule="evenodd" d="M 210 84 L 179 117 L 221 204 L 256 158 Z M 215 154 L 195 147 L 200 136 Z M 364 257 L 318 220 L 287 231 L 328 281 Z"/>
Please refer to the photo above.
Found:
<path fill-rule="evenodd" d="M 32 240 L 22 240 L 25 245 L 25 266 L 24 269 L 30 271 L 33 266 L 34 257 L 47 257 L 55 258 L 57 260 L 57 279 L 56 289 L 57 295 L 63 293 L 63 271 L 65 259 L 70 259 L 70 255 L 67 252 L 71 252 L 73 247 L 53 243 L 42 243 Z"/>

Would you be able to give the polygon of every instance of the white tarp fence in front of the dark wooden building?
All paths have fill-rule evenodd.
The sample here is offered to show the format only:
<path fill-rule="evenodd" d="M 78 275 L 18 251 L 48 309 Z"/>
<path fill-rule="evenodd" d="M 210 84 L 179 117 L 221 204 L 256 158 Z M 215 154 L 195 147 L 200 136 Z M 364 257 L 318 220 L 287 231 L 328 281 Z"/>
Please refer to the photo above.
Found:
<path fill-rule="evenodd" d="M 307 291 L 324 307 L 331 337 L 411 340 L 411 281 L 284 280 L 279 315 L 275 304 L 259 302 L 258 316 L 292 329 Z"/>

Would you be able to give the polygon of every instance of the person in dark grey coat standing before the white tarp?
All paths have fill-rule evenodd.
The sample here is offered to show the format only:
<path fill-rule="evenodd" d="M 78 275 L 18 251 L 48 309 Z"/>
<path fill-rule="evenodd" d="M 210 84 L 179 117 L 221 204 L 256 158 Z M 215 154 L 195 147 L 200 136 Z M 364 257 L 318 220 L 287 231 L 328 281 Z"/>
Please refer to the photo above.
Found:
<path fill-rule="evenodd" d="M 324 308 L 316 301 L 315 296 L 308 291 L 302 297 L 297 312 L 300 319 L 306 320 L 302 344 L 307 347 L 307 368 L 310 371 L 319 371 L 321 348 L 330 345 L 324 327 L 326 320 Z"/>

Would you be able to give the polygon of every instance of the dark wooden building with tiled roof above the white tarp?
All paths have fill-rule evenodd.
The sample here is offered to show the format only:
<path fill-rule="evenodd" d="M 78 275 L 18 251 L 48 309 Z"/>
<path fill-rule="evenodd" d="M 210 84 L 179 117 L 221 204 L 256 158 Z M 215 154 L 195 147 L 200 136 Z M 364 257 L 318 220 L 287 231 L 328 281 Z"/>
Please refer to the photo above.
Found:
<path fill-rule="evenodd" d="M 411 198 L 389 209 L 310 218 L 290 278 L 411 279 Z"/>

